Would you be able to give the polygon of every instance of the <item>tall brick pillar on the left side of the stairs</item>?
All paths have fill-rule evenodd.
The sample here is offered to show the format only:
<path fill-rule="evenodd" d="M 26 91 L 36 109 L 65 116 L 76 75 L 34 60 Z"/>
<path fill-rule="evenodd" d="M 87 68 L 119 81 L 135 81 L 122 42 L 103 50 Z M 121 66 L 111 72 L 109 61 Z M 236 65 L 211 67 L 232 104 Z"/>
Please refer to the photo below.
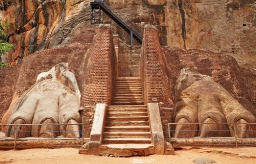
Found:
<path fill-rule="evenodd" d="M 95 30 L 94 39 L 86 54 L 83 68 L 81 106 L 84 137 L 88 138 L 97 103 L 110 105 L 115 77 L 115 57 L 112 32 L 109 24 L 102 24 Z"/>

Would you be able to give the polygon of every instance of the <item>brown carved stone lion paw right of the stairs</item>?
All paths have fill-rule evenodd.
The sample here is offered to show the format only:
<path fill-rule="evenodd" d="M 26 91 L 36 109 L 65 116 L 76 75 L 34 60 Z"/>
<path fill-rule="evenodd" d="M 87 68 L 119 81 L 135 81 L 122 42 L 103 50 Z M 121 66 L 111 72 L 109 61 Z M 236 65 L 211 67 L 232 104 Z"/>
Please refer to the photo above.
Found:
<path fill-rule="evenodd" d="M 256 118 L 211 77 L 182 69 L 175 90 L 175 123 L 256 123 Z M 175 138 L 256 137 L 255 125 L 176 125 Z"/>

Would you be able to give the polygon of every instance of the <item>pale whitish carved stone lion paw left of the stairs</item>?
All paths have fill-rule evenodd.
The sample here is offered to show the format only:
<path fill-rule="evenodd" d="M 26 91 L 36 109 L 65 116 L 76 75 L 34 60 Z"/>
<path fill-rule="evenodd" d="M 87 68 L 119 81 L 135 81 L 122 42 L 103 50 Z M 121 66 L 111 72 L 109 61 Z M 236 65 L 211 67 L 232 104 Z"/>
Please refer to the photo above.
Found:
<path fill-rule="evenodd" d="M 36 83 L 15 105 L 8 124 L 75 124 L 81 122 L 81 93 L 74 74 L 60 63 L 38 75 Z M 7 126 L 6 136 L 14 137 L 16 126 Z M 79 138 L 79 125 L 17 125 L 17 137 L 57 136 Z"/>

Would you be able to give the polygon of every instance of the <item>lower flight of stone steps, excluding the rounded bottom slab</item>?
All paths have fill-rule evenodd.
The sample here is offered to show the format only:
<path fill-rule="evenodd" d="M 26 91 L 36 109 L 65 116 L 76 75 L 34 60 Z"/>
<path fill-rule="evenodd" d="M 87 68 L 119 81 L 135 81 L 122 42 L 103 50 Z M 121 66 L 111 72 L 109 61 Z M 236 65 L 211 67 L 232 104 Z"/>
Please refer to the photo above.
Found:
<path fill-rule="evenodd" d="M 151 144 L 145 105 L 109 106 L 103 144 Z"/>

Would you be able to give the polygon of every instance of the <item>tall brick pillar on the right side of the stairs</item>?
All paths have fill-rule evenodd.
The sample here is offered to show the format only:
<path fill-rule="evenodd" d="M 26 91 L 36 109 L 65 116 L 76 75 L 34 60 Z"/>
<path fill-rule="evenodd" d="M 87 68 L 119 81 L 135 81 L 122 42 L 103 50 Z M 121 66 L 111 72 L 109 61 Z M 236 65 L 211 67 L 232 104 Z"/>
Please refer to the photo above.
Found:
<path fill-rule="evenodd" d="M 159 31 L 155 26 L 145 26 L 141 59 L 145 103 L 159 103 L 161 107 L 173 108 L 175 105 L 174 84 L 168 78 L 167 66 L 158 35 Z M 164 137 L 167 138 L 168 123 L 171 122 L 172 111 L 160 110 L 160 115 Z"/>

